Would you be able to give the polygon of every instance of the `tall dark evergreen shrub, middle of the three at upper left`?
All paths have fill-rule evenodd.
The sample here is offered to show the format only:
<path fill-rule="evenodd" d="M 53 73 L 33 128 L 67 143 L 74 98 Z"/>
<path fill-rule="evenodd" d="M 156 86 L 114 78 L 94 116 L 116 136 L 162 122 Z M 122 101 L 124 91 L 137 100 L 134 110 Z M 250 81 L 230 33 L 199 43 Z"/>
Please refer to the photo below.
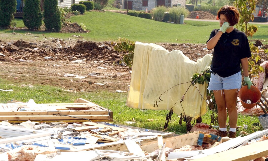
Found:
<path fill-rule="evenodd" d="M 27 0 L 24 2 L 23 23 L 30 30 L 38 29 L 42 25 L 40 0 Z"/>

